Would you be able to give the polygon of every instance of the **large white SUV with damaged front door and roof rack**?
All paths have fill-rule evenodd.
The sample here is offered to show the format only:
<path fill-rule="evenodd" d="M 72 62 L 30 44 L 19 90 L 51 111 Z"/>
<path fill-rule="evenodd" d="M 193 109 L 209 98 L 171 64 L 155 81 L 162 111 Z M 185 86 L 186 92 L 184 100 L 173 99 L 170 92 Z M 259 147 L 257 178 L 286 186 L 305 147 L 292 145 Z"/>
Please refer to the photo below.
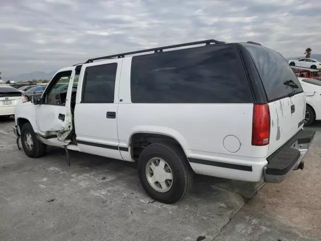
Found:
<path fill-rule="evenodd" d="M 194 173 L 275 183 L 302 169 L 314 135 L 302 131 L 304 112 L 280 54 L 206 40 L 63 68 L 40 99 L 16 108 L 14 132 L 29 157 L 50 145 L 137 161 L 146 192 L 174 203 Z"/>

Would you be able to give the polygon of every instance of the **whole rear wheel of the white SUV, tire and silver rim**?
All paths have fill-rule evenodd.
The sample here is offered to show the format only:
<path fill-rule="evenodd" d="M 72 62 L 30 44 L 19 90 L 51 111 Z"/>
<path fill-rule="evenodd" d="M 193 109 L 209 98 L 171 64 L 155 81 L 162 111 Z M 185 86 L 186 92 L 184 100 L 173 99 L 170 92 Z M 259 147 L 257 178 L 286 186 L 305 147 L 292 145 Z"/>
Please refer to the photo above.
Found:
<path fill-rule="evenodd" d="M 194 172 L 181 149 L 167 143 L 154 143 L 139 155 L 138 176 L 151 198 L 171 204 L 189 192 Z"/>

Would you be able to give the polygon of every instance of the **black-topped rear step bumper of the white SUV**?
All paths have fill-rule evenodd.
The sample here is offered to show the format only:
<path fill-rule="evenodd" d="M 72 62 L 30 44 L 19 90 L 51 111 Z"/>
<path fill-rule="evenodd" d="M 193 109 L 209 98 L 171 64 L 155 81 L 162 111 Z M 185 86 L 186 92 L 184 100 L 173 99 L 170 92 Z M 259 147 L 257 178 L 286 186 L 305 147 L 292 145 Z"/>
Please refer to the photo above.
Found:
<path fill-rule="evenodd" d="M 292 137 L 283 147 L 267 158 L 264 167 L 264 181 L 269 183 L 282 182 L 285 177 L 302 162 L 315 131 L 302 130 Z M 303 165 L 300 165 L 303 167 Z"/>

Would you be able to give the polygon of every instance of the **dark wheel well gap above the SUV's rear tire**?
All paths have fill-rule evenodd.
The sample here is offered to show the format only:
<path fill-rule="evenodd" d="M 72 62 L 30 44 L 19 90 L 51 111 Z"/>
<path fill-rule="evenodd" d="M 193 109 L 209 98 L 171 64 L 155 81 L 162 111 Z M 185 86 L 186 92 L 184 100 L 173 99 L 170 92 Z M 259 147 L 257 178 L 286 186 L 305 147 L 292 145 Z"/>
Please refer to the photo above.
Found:
<path fill-rule="evenodd" d="M 162 135 L 162 134 L 153 134 L 153 133 L 136 133 L 131 137 L 131 141 L 129 145 L 131 158 L 133 160 L 138 160 L 142 150 L 144 150 L 145 147 L 147 147 L 152 143 L 172 144 L 180 148 L 183 151 L 183 153 L 185 153 L 181 144 L 173 137 Z"/>

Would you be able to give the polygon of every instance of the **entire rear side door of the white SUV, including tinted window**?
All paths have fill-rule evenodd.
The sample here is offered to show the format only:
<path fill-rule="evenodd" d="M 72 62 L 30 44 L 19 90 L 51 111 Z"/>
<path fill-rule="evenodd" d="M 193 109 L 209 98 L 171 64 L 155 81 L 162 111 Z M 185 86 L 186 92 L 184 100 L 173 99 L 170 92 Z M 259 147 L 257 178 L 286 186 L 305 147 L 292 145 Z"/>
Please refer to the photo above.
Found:
<path fill-rule="evenodd" d="M 113 59 L 82 66 L 75 106 L 76 140 L 82 152 L 122 159 L 117 135 L 121 64 L 122 59 Z"/>

